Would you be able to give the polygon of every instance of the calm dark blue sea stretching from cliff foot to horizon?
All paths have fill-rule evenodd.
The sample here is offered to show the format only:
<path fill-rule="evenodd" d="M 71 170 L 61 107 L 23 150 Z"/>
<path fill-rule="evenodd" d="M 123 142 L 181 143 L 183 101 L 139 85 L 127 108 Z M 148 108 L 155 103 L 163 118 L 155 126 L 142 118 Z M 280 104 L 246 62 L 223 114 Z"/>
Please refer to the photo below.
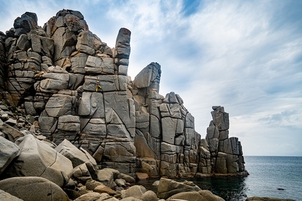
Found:
<path fill-rule="evenodd" d="M 278 197 L 302 201 L 302 157 L 244 156 L 249 176 L 244 178 L 174 179 L 193 181 L 202 190 L 210 190 L 226 201 L 244 201 L 247 197 Z M 158 179 L 138 181 L 157 192 L 152 183 Z"/>

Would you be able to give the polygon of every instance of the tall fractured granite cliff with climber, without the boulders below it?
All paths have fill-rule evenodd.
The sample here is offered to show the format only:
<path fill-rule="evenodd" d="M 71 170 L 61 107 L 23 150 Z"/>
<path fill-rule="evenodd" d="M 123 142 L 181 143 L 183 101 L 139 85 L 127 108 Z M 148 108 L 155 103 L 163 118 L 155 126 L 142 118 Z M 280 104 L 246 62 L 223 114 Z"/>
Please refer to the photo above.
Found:
<path fill-rule="evenodd" d="M 37 147 L 35 139 L 48 141 L 57 151 L 72 144 L 95 160 L 87 167 L 130 176 L 247 176 L 223 106 L 212 107 L 201 139 L 183 99 L 159 95 L 159 64 L 148 64 L 133 81 L 127 76 L 130 39 L 122 28 L 115 47 L 108 47 L 79 11 L 59 11 L 44 27 L 35 13 L 16 18 L 0 32 L 0 99 L 11 105 L 0 109 L 1 136 L 20 150 L 29 139 Z M 23 139 L 27 134 L 35 139 Z M 14 157 L 0 167 L 6 177 Z"/>

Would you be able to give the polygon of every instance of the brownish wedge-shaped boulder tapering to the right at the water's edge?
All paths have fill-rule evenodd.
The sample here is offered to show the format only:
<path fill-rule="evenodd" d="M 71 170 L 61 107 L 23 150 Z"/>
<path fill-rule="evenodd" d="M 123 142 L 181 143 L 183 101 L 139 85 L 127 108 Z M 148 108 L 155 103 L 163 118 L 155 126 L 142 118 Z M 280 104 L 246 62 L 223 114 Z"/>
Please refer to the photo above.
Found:
<path fill-rule="evenodd" d="M 196 185 L 191 186 L 182 182 L 180 183 L 162 177 L 159 180 L 159 186 L 157 188 L 157 197 L 162 199 L 167 199 L 168 197 L 171 197 L 172 195 L 175 195 L 177 193 L 198 191 L 198 190 L 201 189 Z"/>

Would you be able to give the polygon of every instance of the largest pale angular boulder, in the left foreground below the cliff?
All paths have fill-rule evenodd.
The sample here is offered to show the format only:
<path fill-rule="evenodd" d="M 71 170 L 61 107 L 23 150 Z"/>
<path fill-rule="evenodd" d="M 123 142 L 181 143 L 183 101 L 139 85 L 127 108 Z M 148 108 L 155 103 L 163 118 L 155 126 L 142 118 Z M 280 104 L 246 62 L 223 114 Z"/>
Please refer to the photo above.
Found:
<path fill-rule="evenodd" d="M 72 162 L 51 146 L 35 139 L 32 134 L 18 139 L 18 157 L 13 160 L 4 174 L 14 176 L 41 176 L 62 187 L 72 176 Z"/>

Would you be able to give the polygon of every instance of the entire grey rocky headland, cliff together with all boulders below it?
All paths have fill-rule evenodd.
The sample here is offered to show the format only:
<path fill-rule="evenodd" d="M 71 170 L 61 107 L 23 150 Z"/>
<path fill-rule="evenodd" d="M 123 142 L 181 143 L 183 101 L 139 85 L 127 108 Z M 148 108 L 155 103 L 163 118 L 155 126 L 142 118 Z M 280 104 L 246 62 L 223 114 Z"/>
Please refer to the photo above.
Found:
<path fill-rule="evenodd" d="M 0 200 L 222 200 L 163 177 L 157 195 L 130 183 L 248 175 L 223 106 L 201 139 L 183 99 L 159 95 L 158 63 L 131 80 L 128 29 L 110 48 L 79 11 L 37 20 L 0 32 Z"/>

